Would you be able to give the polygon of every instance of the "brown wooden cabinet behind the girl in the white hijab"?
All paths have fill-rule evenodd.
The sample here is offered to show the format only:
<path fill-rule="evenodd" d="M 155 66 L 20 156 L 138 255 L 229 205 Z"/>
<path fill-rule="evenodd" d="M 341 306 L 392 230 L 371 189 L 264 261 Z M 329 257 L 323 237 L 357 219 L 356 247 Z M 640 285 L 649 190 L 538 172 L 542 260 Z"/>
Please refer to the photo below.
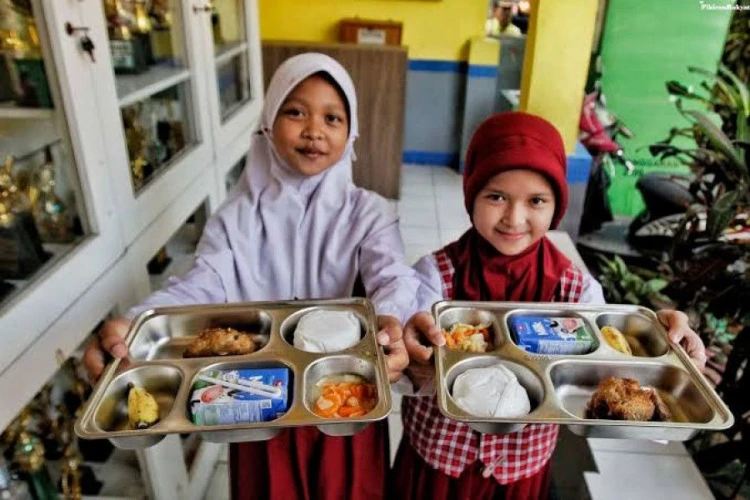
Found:
<path fill-rule="evenodd" d="M 354 182 L 398 199 L 404 147 L 407 52 L 402 47 L 263 42 L 265 85 L 279 65 L 304 52 L 322 52 L 349 72 L 359 102 Z"/>

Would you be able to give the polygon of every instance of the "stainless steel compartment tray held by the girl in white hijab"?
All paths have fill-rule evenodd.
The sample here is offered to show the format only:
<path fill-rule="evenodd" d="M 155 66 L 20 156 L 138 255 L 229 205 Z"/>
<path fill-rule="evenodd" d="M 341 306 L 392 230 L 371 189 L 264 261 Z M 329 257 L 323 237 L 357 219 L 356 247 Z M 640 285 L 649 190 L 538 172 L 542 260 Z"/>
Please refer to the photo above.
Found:
<path fill-rule="evenodd" d="M 353 312 L 362 326 L 362 340 L 355 346 L 328 354 L 296 349 L 286 332 L 305 311 L 315 309 Z M 234 326 L 257 331 L 262 347 L 251 354 L 182 358 L 188 337 L 208 326 Z M 214 442 L 270 439 L 283 428 L 318 426 L 330 435 L 351 435 L 391 411 L 388 371 L 376 341 L 375 310 L 365 299 L 251 302 L 208 306 L 158 308 L 143 312 L 126 337 L 130 357 L 115 360 L 105 370 L 90 397 L 76 433 L 86 439 L 110 439 L 120 448 L 144 448 L 167 434 L 202 433 Z M 189 414 L 189 400 L 196 375 L 206 369 L 285 367 L 289 369 L 288 410 L 268 422 L 198 426 Z M 310 411 L 311 385 L 328 374 L 357 373 L 377 388 L 378 402 L 362 417 L 326 419 Z M 127 384 L 150 390 L 160 407 L 160 419 L 143 430 L 127 428 Z"/>

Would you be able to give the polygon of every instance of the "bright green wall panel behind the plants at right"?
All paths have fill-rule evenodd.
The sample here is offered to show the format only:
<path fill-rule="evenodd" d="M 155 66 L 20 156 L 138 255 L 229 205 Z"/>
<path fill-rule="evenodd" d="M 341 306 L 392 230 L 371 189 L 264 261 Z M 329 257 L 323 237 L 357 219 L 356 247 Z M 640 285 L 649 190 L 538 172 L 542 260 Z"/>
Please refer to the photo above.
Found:
<path fill-rule="evenodd" d="M 710 3 L 710 2 L 706 2 Z M 688 66 L 715 69 L 731 11 L 703 10 L 698 0 L 609 0 L 602 39 L 602 88 L 607 105 L 636 136 L 621 139 L 636 176 L 618 175 L 610 189 L 615 213 L 636 215 L 643 201 L 635 192 L 639 174 L 677 168 L 657 165 L 648 146 L 684 123 L 669 101 L 665 82 L 698 84 Z M 618 174 L 622 171 L 618 169 Z"/>

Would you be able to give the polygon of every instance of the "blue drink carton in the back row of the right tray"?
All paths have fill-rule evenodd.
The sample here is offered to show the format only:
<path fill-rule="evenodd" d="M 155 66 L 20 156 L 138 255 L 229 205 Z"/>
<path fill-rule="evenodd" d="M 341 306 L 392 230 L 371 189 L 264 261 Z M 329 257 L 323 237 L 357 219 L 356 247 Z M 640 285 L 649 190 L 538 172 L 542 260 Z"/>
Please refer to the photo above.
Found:
<path fill-rule="evenodd" d="M 521 349 L 535 354 L 586 354 L 594 335 L 581 318 L 511 316 L 513 338 Z"/>

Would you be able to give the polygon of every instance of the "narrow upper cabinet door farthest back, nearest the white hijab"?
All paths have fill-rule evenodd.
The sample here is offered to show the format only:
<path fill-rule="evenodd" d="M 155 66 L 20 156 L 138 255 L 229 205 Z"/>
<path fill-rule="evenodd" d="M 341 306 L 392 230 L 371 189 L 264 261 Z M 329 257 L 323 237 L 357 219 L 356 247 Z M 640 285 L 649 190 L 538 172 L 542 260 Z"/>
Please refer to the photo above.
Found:
<path fill-rule="evenodd" d="M 204 9 L 213 77 L 209 92 L 216 106 L 214 137 L 221 151 L 257 118 L 263 99 L 257 4 L 254 0 L 215 0 Z"/>

